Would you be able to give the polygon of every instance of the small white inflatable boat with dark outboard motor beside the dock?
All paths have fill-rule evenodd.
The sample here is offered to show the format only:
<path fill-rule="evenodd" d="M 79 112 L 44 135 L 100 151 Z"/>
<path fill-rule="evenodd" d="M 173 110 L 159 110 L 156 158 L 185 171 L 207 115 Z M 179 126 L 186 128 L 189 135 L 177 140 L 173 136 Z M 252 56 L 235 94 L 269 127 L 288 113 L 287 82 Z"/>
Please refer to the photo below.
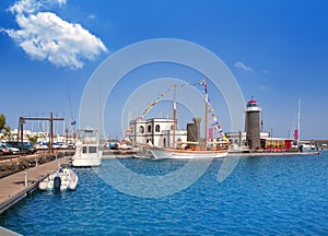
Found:
<path fill-rule="evenodd" d="M 59 167 L 56 173 L 40 181 L 38 188 L 48 191 L 75 190 L 78 181 L 79 177 L 71 168 Z"/>

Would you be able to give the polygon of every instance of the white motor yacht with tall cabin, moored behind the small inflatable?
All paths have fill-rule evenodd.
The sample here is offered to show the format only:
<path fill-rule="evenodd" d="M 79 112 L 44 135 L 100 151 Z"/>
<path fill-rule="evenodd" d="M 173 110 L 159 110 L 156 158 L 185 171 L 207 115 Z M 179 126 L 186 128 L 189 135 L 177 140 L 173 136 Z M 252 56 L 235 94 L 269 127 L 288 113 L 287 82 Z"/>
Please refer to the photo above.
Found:
<path fill-rule="evenodd" d="M 93 167 L 102 164 L 103 151 L 99 150 L 97 130 L 79 130 L 75 153 L 72 157 L 74 167 Z"/>

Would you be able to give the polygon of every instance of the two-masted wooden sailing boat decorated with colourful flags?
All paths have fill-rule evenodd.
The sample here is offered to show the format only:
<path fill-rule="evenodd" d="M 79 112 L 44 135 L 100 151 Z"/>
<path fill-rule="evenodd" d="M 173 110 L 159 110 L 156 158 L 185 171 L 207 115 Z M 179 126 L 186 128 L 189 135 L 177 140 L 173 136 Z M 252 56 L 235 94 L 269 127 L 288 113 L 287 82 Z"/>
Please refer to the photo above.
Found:
<path fill-rule="evenodd" d="M 173 146 L 172 148 L 157 148 L 157 146 L 149 146 L 149 150 L 154 160 L 201 160 L 201 158 L 223 158 L 227 155 L 230 142 L 226 140 L 225 135 L 221 137 L 221 139 L 212 139 L 210 142 L 209 138 L 209 129 L 208 129 L 208 113 L 209 110 L 213 110 L 210 108 L 208 90 L 206 81 L 200 81 L 204 92 L 206 92 L 206 120 L 204 120 L 204 139 L 203 142 L 177 142 L 175 143 L 175 130 L 176 130 L 176 102 L 175 102 L 175 90 L 174 87 L 174 98 L 173 98 Z M 215 118 L 215 122 L 216 118 Z M 220 127 L 220 126 L 219 126 Z M 222 131 L 221 127 L 220 130 Z M 213 130 L 212 130 L 213 131 Z"/>

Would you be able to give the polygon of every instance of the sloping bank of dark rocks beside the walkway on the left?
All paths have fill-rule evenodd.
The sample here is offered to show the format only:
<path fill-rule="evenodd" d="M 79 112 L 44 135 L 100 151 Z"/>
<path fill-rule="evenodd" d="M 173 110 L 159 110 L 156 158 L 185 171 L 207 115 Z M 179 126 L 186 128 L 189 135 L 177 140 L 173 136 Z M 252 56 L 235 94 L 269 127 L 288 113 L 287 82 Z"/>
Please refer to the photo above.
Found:
<path fill-rule="evenodd" d="M 65 156 L 72 156 L 72 152 L 57 152 L 47 154 L 24 155 L 0 160 L 0 178 L 22 172 L 24 169 L 42 165 Z"/>

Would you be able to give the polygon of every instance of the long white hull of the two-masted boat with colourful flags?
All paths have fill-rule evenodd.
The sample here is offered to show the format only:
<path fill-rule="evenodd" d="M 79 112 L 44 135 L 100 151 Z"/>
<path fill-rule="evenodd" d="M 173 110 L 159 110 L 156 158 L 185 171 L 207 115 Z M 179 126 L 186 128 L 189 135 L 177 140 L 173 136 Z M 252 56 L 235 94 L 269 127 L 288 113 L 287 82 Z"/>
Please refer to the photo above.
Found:
<path fill-rule="evenodd" d="M 224 151 L 180 151 L 168 149 L 151 149 L 155 160 L 202 160 L 202 158 L 223 158 L 227 155 Z"/>

